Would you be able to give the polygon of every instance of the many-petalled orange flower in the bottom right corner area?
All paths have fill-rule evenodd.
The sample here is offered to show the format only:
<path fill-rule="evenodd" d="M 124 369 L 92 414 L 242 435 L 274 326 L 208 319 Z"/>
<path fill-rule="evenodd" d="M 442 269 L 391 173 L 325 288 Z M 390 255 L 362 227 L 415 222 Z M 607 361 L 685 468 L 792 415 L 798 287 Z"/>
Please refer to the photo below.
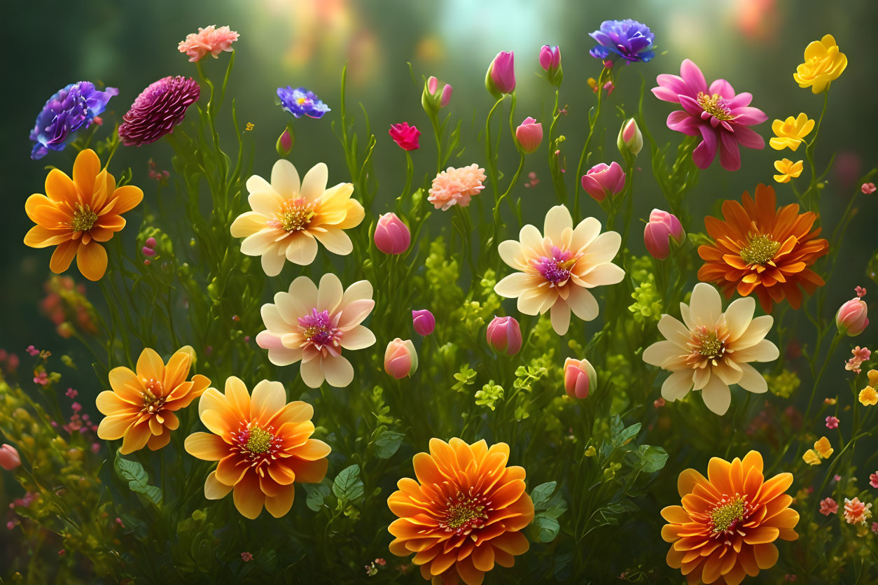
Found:
<path fill-rule="evenodd" d="M 789 508 L 793 498 L 784 492 L 792 474 L 762 476 L 762 455 L 747 453 L 731 462 L 714 457 L 708 477 L 685 469 L 677 481 L 682 506 L 668 506 L 661 515 L 661 536 L 673 542 L 667 564 L 682 569 L 690 585 L 738 585 L 745 575 L 774 567 L 774 541 L 795 540 L 799 514 Z"/>

